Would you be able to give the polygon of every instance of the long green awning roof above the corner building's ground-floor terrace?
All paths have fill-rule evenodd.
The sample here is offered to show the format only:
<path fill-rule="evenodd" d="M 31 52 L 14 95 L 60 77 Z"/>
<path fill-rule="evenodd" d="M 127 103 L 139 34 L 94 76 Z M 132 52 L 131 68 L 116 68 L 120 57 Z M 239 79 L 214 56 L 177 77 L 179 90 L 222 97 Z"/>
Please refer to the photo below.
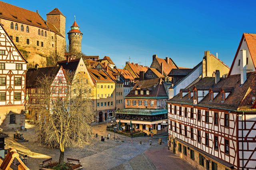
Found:
<path fill-rule="evenodd" d="M 127 115 L 161 115 L 167 114 L 167 109 L 122 109 L 117 110 L 116 113 Z"/>

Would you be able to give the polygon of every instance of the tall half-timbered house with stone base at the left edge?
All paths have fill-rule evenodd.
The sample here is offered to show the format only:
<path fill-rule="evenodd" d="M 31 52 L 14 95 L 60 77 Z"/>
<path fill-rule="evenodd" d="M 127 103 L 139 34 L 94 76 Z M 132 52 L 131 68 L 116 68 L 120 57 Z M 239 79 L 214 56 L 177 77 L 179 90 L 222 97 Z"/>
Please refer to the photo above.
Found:
<path fill-rule="evenodd" d="M 25 126 L 26 63 L 0 24 L 0 127 L 4 130 Z"/>

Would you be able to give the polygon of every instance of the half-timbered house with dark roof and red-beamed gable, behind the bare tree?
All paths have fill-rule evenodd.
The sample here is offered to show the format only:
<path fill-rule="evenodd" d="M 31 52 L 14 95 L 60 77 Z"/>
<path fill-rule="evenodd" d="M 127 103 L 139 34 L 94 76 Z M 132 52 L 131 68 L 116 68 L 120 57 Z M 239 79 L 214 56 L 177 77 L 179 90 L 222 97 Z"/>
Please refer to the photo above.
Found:
<path fill-rule="evenodd" d="M 62 66 L 52 66 L 39 68 L 29 68 L 26 73 L 26 94 L 28 96 L 27 118 L 38 119 L 37 109 L 40 100 L 45 97 L 45 89 L 41 86 L 40 80 L 50 80 L 52 82 L 49 92 L 52 102 L 57 98 L 64 98 L 68 93 L 66 76 Z"/>

